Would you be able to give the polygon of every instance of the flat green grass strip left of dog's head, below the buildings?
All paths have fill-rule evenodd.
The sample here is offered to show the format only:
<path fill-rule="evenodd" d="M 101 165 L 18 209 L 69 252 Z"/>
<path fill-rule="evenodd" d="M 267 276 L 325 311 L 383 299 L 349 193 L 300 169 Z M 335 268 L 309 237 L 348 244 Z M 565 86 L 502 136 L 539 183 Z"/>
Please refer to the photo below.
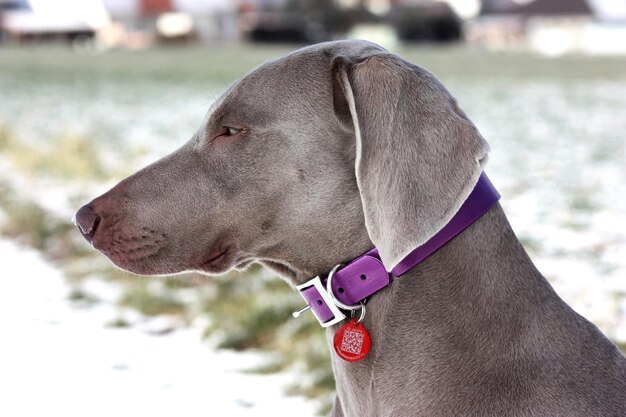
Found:
<path fill-rule="evenodd" d="M 193 83 L 209 81 L 224 86 L 260 63 L 291 50 L 249 45 L 152 48 L 133 52 L 111 50 L 77 54 L 61 47 L 0 49 L 0 71 L 28 82 L 77 81 Z"/>

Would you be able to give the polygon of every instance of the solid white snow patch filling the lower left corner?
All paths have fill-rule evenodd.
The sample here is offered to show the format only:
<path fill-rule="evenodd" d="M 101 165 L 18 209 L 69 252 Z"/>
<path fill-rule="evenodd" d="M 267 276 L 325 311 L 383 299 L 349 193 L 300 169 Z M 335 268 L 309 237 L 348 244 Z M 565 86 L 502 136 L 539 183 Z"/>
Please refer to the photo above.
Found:
<path fill-rule="evenodd" d="M 0 240 L 0 416 L 313 416 L 289 374 L 250 375 L 257 354 L 215 352 L 199 329 L 112 328 L 115 306 L 72 307 L 62 274 Z"/>

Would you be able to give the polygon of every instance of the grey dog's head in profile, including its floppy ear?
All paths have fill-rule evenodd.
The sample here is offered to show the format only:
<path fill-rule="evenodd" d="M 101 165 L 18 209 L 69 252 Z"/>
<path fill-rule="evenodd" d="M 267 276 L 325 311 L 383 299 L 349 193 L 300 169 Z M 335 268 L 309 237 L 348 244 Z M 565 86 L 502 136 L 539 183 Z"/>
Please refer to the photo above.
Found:
<path fill-rule="evenodd" d="M 76 221 L 138 274 L 261 261 L 302 282 L 374 245 L 390 270 L 452 217 L 487 151 L 429 72 L 368 42 L 324 43 L 244 76 L 186 144 Z"/>

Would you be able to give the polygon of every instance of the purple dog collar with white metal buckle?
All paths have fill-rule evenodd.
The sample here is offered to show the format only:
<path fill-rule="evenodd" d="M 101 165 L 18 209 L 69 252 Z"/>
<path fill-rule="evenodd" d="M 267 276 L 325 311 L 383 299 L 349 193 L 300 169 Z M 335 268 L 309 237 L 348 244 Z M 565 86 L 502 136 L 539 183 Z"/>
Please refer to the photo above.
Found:
<path fill-rule="evenodd" d="M 500 199 L 487 175 L 483 172 L 474 189 L 452 217 L 430 240 L 413 250 L 389 273 L 378 256 L 376 248 L 353 259 L 332 273 L 332 294 L 326 290 L 326 279 L 318 276 L 299 285 L 298 291 L 307 306 L 297 313 L 311 309 L 322 327 L 328 327 L 346 318 L 342 304 L 358 306 L 366 298 L 385 288 L 411 268 L 422 262 L 455 236 L 485 214 Z M 339 301 L 339 302 L 337 302 Z"/>

